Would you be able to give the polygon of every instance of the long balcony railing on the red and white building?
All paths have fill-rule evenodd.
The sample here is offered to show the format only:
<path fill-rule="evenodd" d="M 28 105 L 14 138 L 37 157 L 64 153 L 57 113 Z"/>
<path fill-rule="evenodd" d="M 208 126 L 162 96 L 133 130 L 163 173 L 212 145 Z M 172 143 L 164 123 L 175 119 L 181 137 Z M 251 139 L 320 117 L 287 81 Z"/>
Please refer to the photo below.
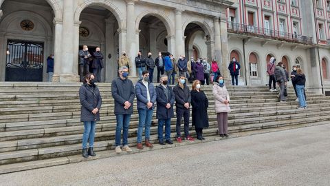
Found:
<path fill-rule="evenodd" d="M 227 28 L 228 28 L 228 32 L 234 32 L 238 34 L 250 34 L 256 37 L 265 37 L 270 39 L 278 39 L 278 40 L 290 41 L 296 43 L 313 44 L 312 37 L 307 37 L 300 34 L 281 32 L 267 28 L 259 28 L 254 25 L 243 25 L 240 23 L 234 23 L 228 21 Z"/>

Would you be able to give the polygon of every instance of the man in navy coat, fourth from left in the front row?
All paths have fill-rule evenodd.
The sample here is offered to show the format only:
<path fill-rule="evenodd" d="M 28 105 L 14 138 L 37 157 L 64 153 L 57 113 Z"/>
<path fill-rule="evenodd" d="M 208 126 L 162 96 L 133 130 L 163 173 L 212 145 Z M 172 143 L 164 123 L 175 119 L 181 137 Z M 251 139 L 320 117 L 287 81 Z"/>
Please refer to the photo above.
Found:
<path fill-rule="evenodd" d="M 158 142 L 159 145 L 165 143 L 173 144 L 170 140 L 170 118 L 174 116 L 173 105 L 175 94 L 172 87 L 168 86 L 168 76 L 166 74 L 160 77 L 160 84 L 156 87 L 157 93 L 157 112 L 158 119 Z M 165 124 L 165 142 L 163 137 L 163 127 Z"/>

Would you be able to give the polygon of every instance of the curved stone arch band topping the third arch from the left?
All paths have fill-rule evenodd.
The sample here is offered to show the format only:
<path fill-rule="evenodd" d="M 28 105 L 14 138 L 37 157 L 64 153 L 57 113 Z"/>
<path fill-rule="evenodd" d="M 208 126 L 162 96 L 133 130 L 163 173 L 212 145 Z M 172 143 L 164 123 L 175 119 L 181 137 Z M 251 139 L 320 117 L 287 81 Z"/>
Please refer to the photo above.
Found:
<path fill-rule="evenodd" d="M 162 23 L 164 23 L 165 25 L 165 28 L 169 36 L 175 34 L 175 30 L 174 30 L 175 27 L 173 25 L 173 22 L 164 12 L 160 12 L 157 10 L 146 10 L 142 12 L 140 15 L 138 15 L 137 18 L 135 19 L 135 30 L 139 30 L 140 21 L 146 15 L 157 17 L 160 21 L 162 21 Z"/>

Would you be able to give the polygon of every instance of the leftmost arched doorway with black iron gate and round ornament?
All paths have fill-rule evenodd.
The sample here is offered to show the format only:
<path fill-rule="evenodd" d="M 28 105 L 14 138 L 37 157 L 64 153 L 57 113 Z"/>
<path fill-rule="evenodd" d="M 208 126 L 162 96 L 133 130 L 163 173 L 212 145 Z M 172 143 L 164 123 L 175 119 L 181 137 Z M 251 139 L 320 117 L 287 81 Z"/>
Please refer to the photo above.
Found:
<path fill-rule="evenodd" d="M 0 81 L 46 81 L 47 56 L 54 52 L 52 6 L 47 1 L 6 0 L 1 10 Z"/>

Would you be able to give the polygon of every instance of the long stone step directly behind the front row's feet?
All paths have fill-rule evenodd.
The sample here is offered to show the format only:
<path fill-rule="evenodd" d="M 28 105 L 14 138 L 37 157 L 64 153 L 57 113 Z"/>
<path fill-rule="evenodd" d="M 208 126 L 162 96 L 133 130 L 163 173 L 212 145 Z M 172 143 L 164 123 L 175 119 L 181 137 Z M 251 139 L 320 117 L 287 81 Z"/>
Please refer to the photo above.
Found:
<path fill-rule="evenodd" d="M 265 130 L 274 127 L 285 127 L 285 126 L 294 126 L 294 125 L 311 125 L 307 123 L 319 123 L 323 121 L 330 120 L 330 116 L 324 116 L 322 118 L 298 118 L 294 120 L 287 120 L 282 122 L 270 122 L 270 123 L 259 123 L 259 124 L 252 124 L 252 125 L 241 125 L 241 126 L 230 126 L 229 133 L 235 132 L 247 132 L 252 130 Z M 208 128 L 203 130 L 206 137 L 217 135 L 217 128 Z M 195 136 L 195 132 L 190 130 L 190 134 Z M 81 136 L 80 136 L 81 137 Z M 171 134 L 171 138 L 173 141 L 175 140 L 175 133 Z M 78 139 L 77 139 L 78 141 Z M 157 135 L 151 135 L 151 143 L 157 143 Z M 113 140 L 105 140 L 105 141 L 97 141 L 94 144 L 94 149 L 96 152 L 113 149 L 114 148 L 114 141 Z M 134 147 L 136 145 L 136 136 L 129 136 L 129 145 Z M 12 152 L 1 152 L 0 153 L 0 165 L 5 165 L 8 163 L 20 163 L 24 161 L 35 161 L 40 159 L 47 159 L 47 158 L 57 158 L 61 156 L 71 156 L 74 154 L 81 153 L 81 144 L 77 143 L 74 145 L 59 145 L 59 146 L 52 146 L 52 147 L 41 147 L 38 149 L 26 149 L 26 150 L 19 150 L 19 151 L 12 151 Z"/>

